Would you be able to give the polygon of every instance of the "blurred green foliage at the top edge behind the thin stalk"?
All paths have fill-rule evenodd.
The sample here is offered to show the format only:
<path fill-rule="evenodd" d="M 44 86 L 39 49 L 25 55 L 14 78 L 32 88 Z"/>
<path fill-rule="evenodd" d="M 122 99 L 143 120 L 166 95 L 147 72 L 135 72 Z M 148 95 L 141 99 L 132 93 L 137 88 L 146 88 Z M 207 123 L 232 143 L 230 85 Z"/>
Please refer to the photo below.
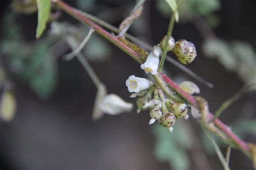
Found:
<path fill-rule="evenodd" d="M 178 1 L 177 1 L 178 3 Z M 218 18 L 214 15 L 214 12 L 220 9 L 220 0 L 190 0 L 181 2 L 179 8 L 179 18 L 181 22 L 188 22 L 194 17 L 202 16 L 211 25 L 216 25 Z M 164 16 L 170 17 L 169 6 L 166 5 L 165 1 L 158 0 L 156 8 Z"/>

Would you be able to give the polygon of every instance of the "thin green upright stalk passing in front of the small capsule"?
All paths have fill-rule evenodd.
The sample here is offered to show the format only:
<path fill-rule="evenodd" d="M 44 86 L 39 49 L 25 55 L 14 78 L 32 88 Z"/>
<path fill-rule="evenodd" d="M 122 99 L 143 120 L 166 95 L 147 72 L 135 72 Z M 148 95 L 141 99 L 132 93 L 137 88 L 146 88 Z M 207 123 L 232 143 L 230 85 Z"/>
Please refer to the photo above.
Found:
<path fill-rule="evenodd" d="M 175 17 L 174 17 L 174 13 L 173 13 L 172 17 L 170 19 L 170 22 L 169 22 L 167 36 L 166 36 L 167 38 L 166 38 L 166 41 L 165 41 L 164 51 L 163 51 L 163 54 L 161 56 L 161 61 L 160 61 L 159 67 L 158 67 L 158 73 L 160 73 L 161 70 L 164 67 L 164 61 L 165 61 L 165 57 L 166 57 L 166 54 L 167 54 L 168 41 L 169 41 L 170 37 L 172 36 L 172 30 L 173 30 L 174 22 L 175 22 Z"/>

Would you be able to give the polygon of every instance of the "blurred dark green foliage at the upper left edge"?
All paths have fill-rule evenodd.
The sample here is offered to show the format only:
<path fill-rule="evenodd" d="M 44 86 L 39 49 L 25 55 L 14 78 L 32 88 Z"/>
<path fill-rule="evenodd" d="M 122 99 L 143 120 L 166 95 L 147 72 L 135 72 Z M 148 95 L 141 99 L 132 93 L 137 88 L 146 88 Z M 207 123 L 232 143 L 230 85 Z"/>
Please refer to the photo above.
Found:
<path fill-rule="evenodd" d="M 58 80 L 57 62 L 50 51 L 56 41 L 55 37 L 26 42 L 15 15 L 6 13 L 5 16 L 5 36 L 0 49 L 6 56 L 8 67 L 19 81 L 27 84 L 39 97 L 48 98 L 55 90 Z"/>

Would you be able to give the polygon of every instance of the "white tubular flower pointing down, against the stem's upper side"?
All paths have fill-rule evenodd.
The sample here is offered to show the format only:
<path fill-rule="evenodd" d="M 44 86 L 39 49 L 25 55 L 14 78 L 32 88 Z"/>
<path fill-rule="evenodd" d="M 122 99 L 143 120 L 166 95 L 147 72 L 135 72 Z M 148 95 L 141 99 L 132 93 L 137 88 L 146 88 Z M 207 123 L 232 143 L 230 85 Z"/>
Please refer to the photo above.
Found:
<path fill-rule="evenodd" d="M 153 51 L 147 56 L 146 61 L 140 66 L 145 73 L 151 73 L 153 75 L 157 74 L 157 69 L 159 65 L 159 56 L 161 55 L 161 48 L 154 46 Z"/>

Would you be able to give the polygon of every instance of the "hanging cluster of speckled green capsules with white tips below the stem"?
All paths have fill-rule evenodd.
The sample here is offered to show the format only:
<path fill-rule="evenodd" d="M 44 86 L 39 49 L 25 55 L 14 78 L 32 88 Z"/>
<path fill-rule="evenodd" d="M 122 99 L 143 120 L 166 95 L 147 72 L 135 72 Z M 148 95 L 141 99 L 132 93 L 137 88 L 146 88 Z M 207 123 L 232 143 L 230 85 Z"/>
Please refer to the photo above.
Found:
<path fill-rule="evenodd" d="M 162 95 L 159 95 L 160 93 Z M 149 109 L 150 111 L 149 115 L 151 119 L 149 124 L 158 121 L 162 126 L 172 132 L 176 119 L 187 118 L 187 105 L 166 99 L 163 91 L 156 86 L 140 91 L 137 96 L 139 97 L 137 99 L 138 113 L 141 110 Z"/>

